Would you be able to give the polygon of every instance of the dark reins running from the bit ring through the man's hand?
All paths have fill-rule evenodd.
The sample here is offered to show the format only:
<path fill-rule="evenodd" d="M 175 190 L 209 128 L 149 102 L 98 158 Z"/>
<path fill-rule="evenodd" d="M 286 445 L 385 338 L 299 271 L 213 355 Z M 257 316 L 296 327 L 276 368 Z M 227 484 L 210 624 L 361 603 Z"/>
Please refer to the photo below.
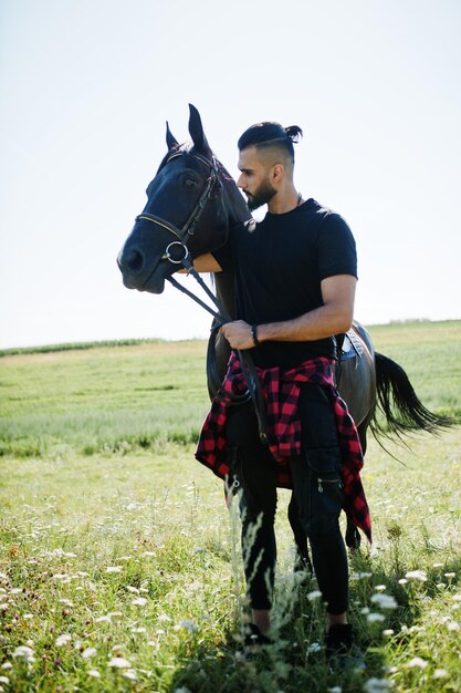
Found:
<path fill-rule="evenodd" d="M 188 296 L 193 301 L 196 301 L 196 303 L 201 306 L 201 308 L 207 310 L 214 318 L 216 322 L 213 327 L 211 328 L 211 335 L 210 335 L 209 348 L 208 348 L 208 358 L 209 358 L 211 353 L 211 340 L 212 340 L 212 343 L 214 344 L 217 330 L 219 330 L 227 322 L 231 322 L 232 319 L 227 312 L 227 310 L 223 308 L 223 306 L 220 303 L 218 298 L 214 296 L 214 293 L 207 287 L 203 279 L 197 272 L 189 254 L 186 255 L 186 257 L 181 260 L 180 263 L 187 270 L 187 273 L 191 275 L 195 278 L 195 280 L 200 285 L 200 287 L 203 289 L 207 296 L 212 300 L 214 306 L 218 308 L 218 311 L 213 310 L 210 306 L 205 303 L 205 301 L 202 301 L 198 296 L 196 296 L 195 293 L 189 291 L 189 289 L 186 289 L 186 287 L 180 285 L 179 281 L 174 279 L 174 277 L 167 278 L 168 281 L 175 287 L 175 289 L 178 289 L 179 291 L 181 291 L 181 293 L 186 293 L 186 296 Z M 268 417 L 265 413 L 265 403 L 264 403 L 261 384 L 258 377 L 253 359 L 247 349 L 245 350 L 238 349 L 237 353 L 239 355 L 239 361 L 242 368 L 242 373 L 243 373 L 243 377 L 247 384 L 248 392 L 242 395 L 232 395 L 232 401 L 234 404 L 242 404 L 243 402 L 248 402 L 249 399 L 251 397 L 251 401 L 253 402 L 254 411 L 256 414 L 260 441 L 263 445 L 269 445 Z M 216 374 L 216 369 L 214 369 L 214 376 L 218 380 L 218 376 Z"/>

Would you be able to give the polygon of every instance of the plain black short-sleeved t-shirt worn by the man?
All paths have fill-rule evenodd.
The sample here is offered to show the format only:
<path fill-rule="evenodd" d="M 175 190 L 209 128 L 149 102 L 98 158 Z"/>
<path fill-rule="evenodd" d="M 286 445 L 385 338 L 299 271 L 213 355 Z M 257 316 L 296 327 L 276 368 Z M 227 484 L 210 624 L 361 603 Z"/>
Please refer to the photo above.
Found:
<path fill-rule="evenodd" d="M 281 322 L 323 306 L 321 281 L 335 275 L 357 277 L 355 240 L 346 221 L 314 199 L 286 214 L 232 229 L 227 246 L 213 251 L 233 271 L 235 317 L 249 324 Z M 334 358 L 334 338 L 306 342 L 268 341 L 253 350 L 261 368 L 287 370 L 315 356 Z"/>

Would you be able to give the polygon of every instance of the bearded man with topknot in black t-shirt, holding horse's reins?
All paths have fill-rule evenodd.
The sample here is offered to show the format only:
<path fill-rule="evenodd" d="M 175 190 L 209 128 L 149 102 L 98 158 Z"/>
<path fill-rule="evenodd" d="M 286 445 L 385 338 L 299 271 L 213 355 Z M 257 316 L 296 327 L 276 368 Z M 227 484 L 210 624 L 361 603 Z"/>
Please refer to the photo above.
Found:
<path fill-rule="evenodd" d="M 234 228 L 223 249 L 195 261 L 199 271 L 235 273 L 239 319 L 221 331 L 233 350 L 251 350 L 268 402 L 270 445 L 260 442 L 251 403 L 227 405 L 226 392 L 244 387 L 233 352 L 197 458 L 220 476 L 237 474 L 243 487 L 244 569 L 252 638 L 260 643 L 269 642 L 271 624 L 276 487 L 294 488 L 326 602 L 327 652 L 336 654 L 352 647 L 347 555 L 338 525 L 343 506 L 370 536 L 358 438 L 333 386 L 333 335 L 353 320 L 357 261 L 342 217 L 304 200 L 294 185 L 293 143 L 300 136 L 300 127 L 279 123 L 243 133 L 238 186 L 250 209 L 266 204 L 268 214 L 255 228 Z"/>

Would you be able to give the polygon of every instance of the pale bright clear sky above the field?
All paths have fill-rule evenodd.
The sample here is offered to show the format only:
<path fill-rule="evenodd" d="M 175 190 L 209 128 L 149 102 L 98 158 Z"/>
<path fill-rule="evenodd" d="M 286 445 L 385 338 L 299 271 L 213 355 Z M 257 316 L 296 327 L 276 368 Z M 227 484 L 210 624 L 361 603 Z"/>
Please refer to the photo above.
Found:
<path fill-rule="evenodd" d="M 459 0 L 1 0 L 0 346 L 208 334 L 115 263 L 189 102 L 234 176 L 249 125 L 303 127 L 358 320 L 461 318 L 460 32 Z"/>

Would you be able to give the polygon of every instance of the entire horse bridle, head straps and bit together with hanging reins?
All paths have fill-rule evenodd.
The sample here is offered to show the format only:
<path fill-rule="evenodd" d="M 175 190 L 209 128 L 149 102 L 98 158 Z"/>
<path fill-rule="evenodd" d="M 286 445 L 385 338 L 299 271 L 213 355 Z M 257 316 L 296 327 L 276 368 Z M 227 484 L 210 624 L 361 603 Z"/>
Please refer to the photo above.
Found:
<path fill-rule="evenodd" d="M 184 156 L 184 155 L 185 155 L 185 152 L 177 152 L 172 154 L 166 159 L 166 162 L 164 163 L 164 166 L 166 166 L 171 159 L 177 158 L 179 156 Z M 226 324 L 227 322 L 231 322 L 232 318 L 229 316 L 229 313 L 227 312 L 222 303 L 220 303 L 220 301 L 214 296 L 214 293 L 210 291 L 210 289 L 207 287 L 207 285 L 200 277 L 200 275 L 195 269 L 193 261 L 190 257 L 190 252 L 189 252 L 189 248 L 187 247 L 187 244 L 190 240 L 190 238 L 193 236 L 197 224 L 199 223 L 200 217 L 207 204 L 211 199 L 213 199 L 212 194 L 213 194 L 214 188 L 222 188 L 222 184 L 218 176 L 219 168 L 218 168 L 218 162 L 214 156 L 211 158 L 211 161 L 209 161 L 205 156 L 201 156 L 200 154 L 197 154 L 197 153 L 189 154 L 189 155 L 193 156 L 193 158 L 197 158 L 199 162 L 208 166 L 210 169 L 210 175 L 208 176 L 205 183 L 203 189 L 192 211 L 190 213 L 186 223 L 182 225 L 182 228 L 178 228 L 175 224 L 171 224 L 171 221 L 168 221 L 167 219 L 163 219 L 161 217 L 158 217 L 157 215 L 150 214 L 148 211 L 143 211 L 140 215 L 138 215 L 136 217 L 136 221 L 140 221 L 143 219 L 146 221 L 151 221 L 156 226 L 159 226 L 166 229 L 167 231 L 169 231 L 170 234 L 175 236 L 177 240 L 172 240 L 170 244 L 167 245 L 165 252 L 160 257 L 159 261 L 169 260 L 174 265 L 181 265 L 187 270 L 188 275 L 192 275 L 192 277 L 200 285 L 200 287 L 203 289 L 203 291 L 207 293 L 207 296 L 211 299 L 211 301 L 214 303 L 214 306 L 218 309 L 218 310 L 213 310 L 212 308 L 210 308 L 198 296 L 192 293 L 192 291 L 189 291 L 189 289 L 186 289 L 186 287 L 180 285 L 176 279 L 174 279 L 174 277 L 167 277 L 168 281 L 176 289 L 178 289 L 182 293 L 186 293 L 186 296 L 188 296 L 193 301 L 196 301 L 196 303 L 201 306 L 201 308 L 207 310 L 213 317 L 211 334 L 208 341 L 207 370 L 208 370 L 208 374 L 210 379 L 213 382 L 214 389 L 218 391 L 219 385 L 220 385 L 220 379 L 218 375 L 217 359 L 216 359 L 216 333 L 223 324 Z M 161 168 L 164 166 L 161 166 Z M 182 249 L 181 258 L 175 259 L 171 257 L 170 250 L 174 246 L 179 246 Z M 243 351 L 239 349 L 237 351 L 238 351 L 239 361 L 242 366 L 242 372 L 243 372 L 243 376 L 244 376 L 245 384 L 247 384 L 247 392 L 240 395 L 232 394 L 231 395 L 232 403 L 241 404 L 243 402 L 248 402 L 250 399 L 252 400 L 254 410 L 256 413 L 256 418 L 258 418 L 260 439 L 263 444 L 266 445 L 269 443 L 268 422 L 266 422 L 264 400 L 263 400 L 261 384 L 258 377 L 256 369 L 254 366 L 253 359 L 248 350 Z"/>

